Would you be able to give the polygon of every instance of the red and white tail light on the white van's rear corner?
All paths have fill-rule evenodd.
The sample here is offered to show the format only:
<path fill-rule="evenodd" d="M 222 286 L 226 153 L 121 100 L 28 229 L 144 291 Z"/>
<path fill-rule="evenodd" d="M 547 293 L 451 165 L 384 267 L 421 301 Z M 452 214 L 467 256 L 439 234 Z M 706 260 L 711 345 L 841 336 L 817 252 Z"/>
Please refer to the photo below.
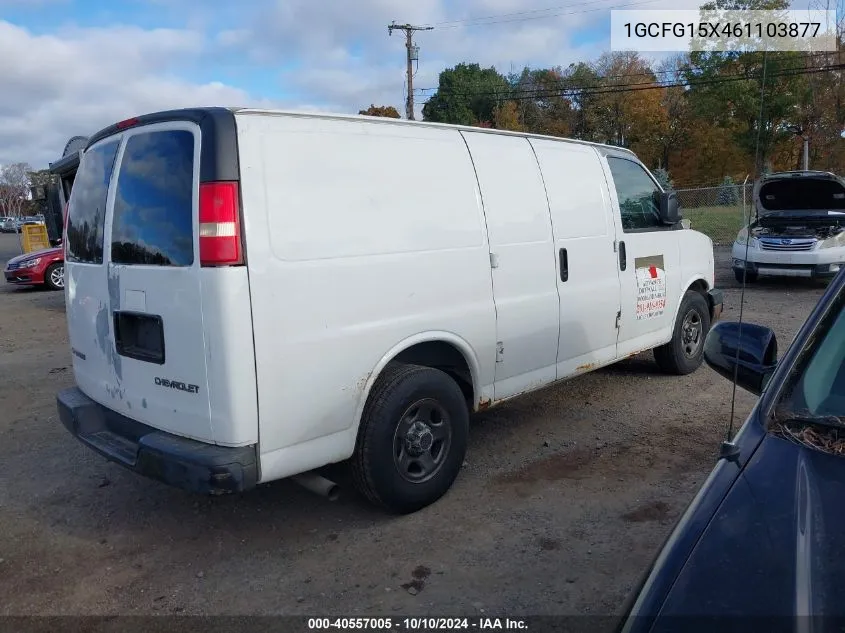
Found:
<path fill-rule="evenodd" d="M 238 183 L 200 183 L 200 266 L 243 264 Z"/>

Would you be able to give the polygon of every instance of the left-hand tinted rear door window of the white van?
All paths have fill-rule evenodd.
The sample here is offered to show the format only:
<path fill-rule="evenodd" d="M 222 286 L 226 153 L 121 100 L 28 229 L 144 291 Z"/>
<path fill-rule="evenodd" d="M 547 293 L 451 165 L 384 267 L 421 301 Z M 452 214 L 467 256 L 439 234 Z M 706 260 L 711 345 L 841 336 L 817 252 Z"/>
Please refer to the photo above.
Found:
<path fill-rule="evenodd" d="M 70 197 L 67 220 L 67 260 L 103 263 L 103 223 L 118 141 L 98 145 L 82 156 Z"/>

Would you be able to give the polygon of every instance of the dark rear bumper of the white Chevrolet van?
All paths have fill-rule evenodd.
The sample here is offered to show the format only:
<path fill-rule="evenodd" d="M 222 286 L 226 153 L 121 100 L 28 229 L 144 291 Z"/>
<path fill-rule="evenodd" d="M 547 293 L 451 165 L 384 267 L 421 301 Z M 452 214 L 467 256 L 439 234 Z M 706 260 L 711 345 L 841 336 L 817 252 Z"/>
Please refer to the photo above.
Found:
<path fill-rule="evenodd" d="M 189 492 L 225 494 L 258 482 L 256 447 L 230 448 L 159 431 L 112 411 L 77 387 L 56 396 L 62 424 L 79 441 L 129 470 Z"/>

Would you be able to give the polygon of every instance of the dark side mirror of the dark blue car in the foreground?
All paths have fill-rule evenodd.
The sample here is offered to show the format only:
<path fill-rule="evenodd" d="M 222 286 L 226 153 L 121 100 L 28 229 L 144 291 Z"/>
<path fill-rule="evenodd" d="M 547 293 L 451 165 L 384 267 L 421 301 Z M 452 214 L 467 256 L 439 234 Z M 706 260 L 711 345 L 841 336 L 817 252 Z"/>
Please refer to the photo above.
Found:
<path fill-rule="evenodd" d="M 763 393 L 777 366 L 775 333 L 762 325 L 722 321 L 704 340 L 704 361 L 718 374 L 756 396 Z"/>

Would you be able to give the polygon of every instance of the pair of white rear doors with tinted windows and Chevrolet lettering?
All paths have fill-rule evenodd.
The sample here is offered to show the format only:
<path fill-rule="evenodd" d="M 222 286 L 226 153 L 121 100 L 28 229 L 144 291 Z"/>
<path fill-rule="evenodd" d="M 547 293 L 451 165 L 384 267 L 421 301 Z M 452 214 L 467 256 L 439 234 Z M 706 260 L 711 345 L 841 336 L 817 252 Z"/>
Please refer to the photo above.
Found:
<path fill-rule="evenodd" d="M 196 123 L 177 120 L 92 145 L 71 195 L 65 266 L 79 388 L 129 418 L 210 442 L 200 141 Z"/>

